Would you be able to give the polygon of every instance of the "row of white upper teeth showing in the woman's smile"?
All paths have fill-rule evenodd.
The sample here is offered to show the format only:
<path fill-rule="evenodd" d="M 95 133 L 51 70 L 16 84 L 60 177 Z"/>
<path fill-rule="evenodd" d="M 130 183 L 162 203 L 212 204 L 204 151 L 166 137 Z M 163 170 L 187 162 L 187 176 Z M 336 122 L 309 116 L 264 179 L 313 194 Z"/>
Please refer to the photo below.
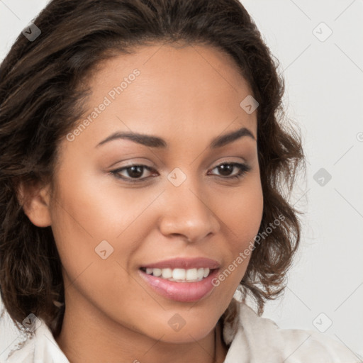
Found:
<path fill-rule="evenodd" d="M 201 281 L 203 278 L 208 277 L 210 269 L 152 269 L 147 268 L 146 273 L 155 277 L 162 277 L 169 281 L 177 282 L 196 282 Z"/>

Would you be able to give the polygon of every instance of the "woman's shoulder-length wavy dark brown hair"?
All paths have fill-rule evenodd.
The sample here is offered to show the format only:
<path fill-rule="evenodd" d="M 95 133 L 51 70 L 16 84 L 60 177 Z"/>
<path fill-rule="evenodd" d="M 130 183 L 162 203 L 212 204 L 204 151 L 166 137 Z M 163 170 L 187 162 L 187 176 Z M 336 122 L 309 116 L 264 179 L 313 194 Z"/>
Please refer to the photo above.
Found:
<path fill-rule="evenodd" d="M 84 112 L 84 79 L 101 60 L 136 45 L 179 40 L 231 55 L 259 103 L 257 149 L 264 197 L 259 232 L 284 216 L 279 228 L 255 246 L 239 286 L 245 297 L 255 298 L 261 315 L 265 301 L 284 290 L 300 241 L 301 212 L 289 204 L 289 195 L 305 157 L 301 137 L 282 107 L 279 62 L 242 4 L 53 0 L 33 23 L 41 34 L 33 42 L 20 34 L 0 67 L 0 291 L 13 322 L 18 325 L 34 313 L 57 336 L 65 311 L 52 230 L 30 222 L 18 200 L 19 183 L 52 181 L 57 146 Z"/>

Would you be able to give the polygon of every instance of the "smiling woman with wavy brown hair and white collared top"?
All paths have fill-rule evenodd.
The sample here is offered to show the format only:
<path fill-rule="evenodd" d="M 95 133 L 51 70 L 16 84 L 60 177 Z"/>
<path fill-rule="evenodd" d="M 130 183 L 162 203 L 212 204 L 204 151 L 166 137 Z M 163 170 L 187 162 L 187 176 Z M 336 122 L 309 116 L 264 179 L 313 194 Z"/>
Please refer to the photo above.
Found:
<path fill-rule="evenodd" d="M 1 362 L 357 362 L 261 317 L 304 156 L 243 6 L 53 0 L 34 23 L 0 68 L 1 298 L 23 337 Z"/>

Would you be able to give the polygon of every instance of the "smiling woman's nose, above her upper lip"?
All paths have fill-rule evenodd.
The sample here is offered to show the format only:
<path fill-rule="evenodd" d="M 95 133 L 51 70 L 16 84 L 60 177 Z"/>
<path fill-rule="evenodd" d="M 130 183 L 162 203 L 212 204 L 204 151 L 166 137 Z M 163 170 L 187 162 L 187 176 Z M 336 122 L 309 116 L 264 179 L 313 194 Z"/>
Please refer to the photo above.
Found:
<path fill-rule="evenodd" d="M 187 181 L 180 186 L 169 184 L 164 191 L 159 228 L 167 237 L 175 235 L 197 242 L 218 233 L 220 223 L 211 209 L 211 200 Z"/>

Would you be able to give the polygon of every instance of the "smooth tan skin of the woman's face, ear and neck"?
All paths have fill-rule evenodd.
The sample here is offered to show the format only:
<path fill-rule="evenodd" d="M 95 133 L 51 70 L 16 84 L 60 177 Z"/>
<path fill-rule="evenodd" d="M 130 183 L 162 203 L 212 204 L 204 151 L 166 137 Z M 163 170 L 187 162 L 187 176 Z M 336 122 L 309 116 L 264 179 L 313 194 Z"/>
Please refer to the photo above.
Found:
<path fill-rule="evenodd" d="M 51 225 L 62 261 L 66 310 L 57 343 L 72 363 L 210 363 L 216 329 L 216 362 L 223 362 L 228 347 L 217 322 L 250 257 L 210 294 L 188 303 L 155 293 L 139 268 L 209 257 L 223 271 L 257 235 L 263 209 L 257 111 L 240 107 L 252 91 L 216 48 L 154 43 L 99 65 L 86 79 L 92 94 L 84 117 L 135 68 L 138 77 L 82 133 L 61 141 L 55 189 L 21 188 L 21 198 L 31 196 L 24 211 L 34 225 Z M 242 127 L 254 138 L 209 148 Z M 155 135 L 168 147 L 125 139 L 96 146 L 116 131 Z M 233 162 L 250 171 L 228 179 L 239 172 L 228 168 Z M 135 169 L 118 172 L 125 179 L 110 173 L 130 164 L 152 170 L 136 177 Z M 186 176 L 179 186 L 167 178 L 175 168 Z M 103 240 L 113 247 L 106 259 L 95 252 Z M 185 320 L 179 331 L 168 323 L 174 314 Z"/>

